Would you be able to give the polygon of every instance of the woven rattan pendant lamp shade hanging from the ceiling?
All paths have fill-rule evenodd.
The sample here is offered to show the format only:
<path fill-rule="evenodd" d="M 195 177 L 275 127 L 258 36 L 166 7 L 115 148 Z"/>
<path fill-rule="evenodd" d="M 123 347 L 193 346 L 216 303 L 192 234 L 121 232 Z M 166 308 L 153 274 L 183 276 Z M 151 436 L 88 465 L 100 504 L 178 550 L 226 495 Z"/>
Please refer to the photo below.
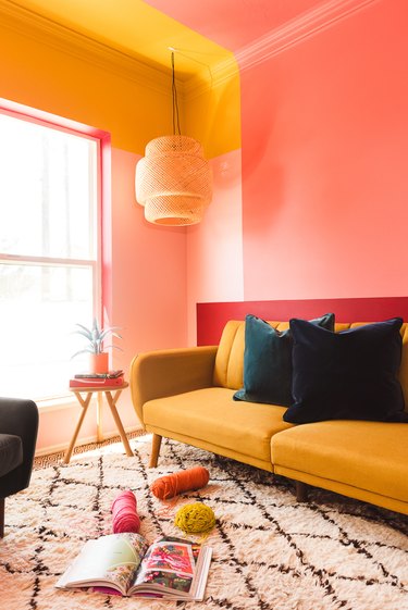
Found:
<path fill-rule="evenodd" d="M 199 141 L 163 136 L 146 146 L 136 165 L 136 199 L 150 223 L 197 224 L 212 197 L 212 174 Z"/>

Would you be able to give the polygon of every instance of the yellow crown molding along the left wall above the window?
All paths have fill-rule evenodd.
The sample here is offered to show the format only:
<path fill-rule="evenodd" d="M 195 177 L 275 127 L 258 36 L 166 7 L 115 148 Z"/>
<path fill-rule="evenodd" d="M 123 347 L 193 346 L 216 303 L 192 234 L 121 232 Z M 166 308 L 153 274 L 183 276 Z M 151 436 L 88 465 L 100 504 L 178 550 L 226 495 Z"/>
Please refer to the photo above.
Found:
<path fill-rule="evenodd" d="M 0 0 L 0 27 L 48 45 L 102 70 L 170 95 L 169 72 L 154 69 L 107 45 L 98 42 L 69 27 L 42 17 L 18 4 Z"/>

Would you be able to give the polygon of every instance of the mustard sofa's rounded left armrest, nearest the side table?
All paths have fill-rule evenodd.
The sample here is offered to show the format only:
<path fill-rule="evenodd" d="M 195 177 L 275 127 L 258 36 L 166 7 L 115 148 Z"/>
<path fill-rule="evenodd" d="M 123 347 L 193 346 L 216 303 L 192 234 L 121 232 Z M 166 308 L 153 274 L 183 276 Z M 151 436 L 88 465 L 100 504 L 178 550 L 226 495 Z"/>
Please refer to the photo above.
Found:
<path fill-rule="evenodd" d="M 218 346 L 147 351 L 131 363 L 129 385 L 135 411 L 144 424 L 148 400 L 211 387 Z"/>

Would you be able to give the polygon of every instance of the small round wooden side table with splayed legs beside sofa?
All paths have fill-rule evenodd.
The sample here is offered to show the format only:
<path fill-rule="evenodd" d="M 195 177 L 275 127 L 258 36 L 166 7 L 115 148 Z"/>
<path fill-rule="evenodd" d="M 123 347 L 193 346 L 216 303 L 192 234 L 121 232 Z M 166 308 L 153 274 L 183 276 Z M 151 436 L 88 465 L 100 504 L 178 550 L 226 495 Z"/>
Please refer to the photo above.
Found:
<path fill-rule="evenodd" d="M 123 382 L 123 384 L 121 386 L 92 385 L 90 387 L 70 387 L 70 391 L 72 391 L 75 395 L 77 401 L 79 402 L 79 404 L 82 407 L 82 412 L 81 412 L 81 415 L 79 415 L 78 423 L 76 424 L 74 435 L 71 439 L 70 447 L 67 448 L 67 450 L 65 452 L 65 456 L 64 456 L 64 459 L 63 459 L 64 464 L 70 463 L 71 456 L 72 456 L 72 452 L 74 450 L 75 443 L 76 443 L 76 439 L 77 439 L 79 431 L 81 431 L 81 426 L 83 425 L 83 421 L 84 421 L 84 418 L 85 418 L 86 412 L 88 410 L 88 407 L 89 407 L 90 400 L 92 398 L 92 395 L 96 394 L 96 393 L 98 394 L 98 399 L 97 399 L 97 440 L 98 440 L 98 443 L 103 439 L 103 437 L 102 437 L 102 409 L 103 409 L 103 394 L 104 394 L 104 396 L 107 397 L 109 408 L 110 408 L 111 413 L 113 415 L 114 422 L 116 424 L 119 434 L 121 436 L 123 446 L 125 448 L 126 456 L 128 456 L 129 458 L 133 457 L 133 451 L 132 451 L 131 446 L 128 444 L 126 433 L 124 431 L 121 418 L 119 416 L 118 409 L 116 409 L 118 399 L 121 396 L 122 390 L 125 389 L 126 387 L 128 387 L 127 382 Z M 83 394 L 85 395 L 85 397 L 82 396 Z"/>

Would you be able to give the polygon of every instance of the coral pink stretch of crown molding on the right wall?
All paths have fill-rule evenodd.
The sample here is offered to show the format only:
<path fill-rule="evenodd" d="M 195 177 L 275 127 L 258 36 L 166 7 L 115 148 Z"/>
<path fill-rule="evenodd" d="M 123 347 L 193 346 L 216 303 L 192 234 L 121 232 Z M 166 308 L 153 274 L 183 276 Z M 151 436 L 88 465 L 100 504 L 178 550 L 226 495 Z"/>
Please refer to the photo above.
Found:
<path fill-rule="evenodd" d="M 235 53 L 240 71 L 254 67 L 273 55 L 302 42 L 306 38 L 332 27 L 378 0 L 329 0 L 302 15 L 273 29 Z"/>

